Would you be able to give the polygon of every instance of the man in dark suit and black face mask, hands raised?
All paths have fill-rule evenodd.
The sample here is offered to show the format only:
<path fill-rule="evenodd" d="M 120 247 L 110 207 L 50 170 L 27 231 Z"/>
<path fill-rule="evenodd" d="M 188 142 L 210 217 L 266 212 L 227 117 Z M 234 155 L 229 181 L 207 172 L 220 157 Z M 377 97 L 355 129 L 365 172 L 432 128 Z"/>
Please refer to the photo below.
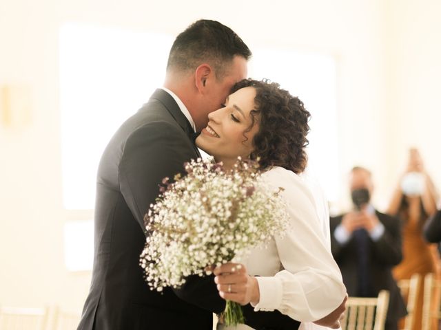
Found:
<path fill-rule="evenodd" d="M 400 221 L 372 206 L 369 170 L 352 168 L 349 181 L 353 210 L 331 217 L 331 251 L 349 296 L 376 297 L 382 289 L 389 291 L 384 329 L 396 330 L 399 318 L 407 314 L 391 272 L 402 260 Z"/>

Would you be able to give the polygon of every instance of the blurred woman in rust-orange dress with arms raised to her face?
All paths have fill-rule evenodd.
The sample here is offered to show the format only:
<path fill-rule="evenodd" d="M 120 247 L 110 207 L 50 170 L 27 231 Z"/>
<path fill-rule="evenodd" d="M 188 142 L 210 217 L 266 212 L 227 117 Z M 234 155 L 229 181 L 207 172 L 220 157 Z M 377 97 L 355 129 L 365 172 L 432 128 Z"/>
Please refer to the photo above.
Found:
<path fill-rule="evenodd" d="M 436 192 L 431 178 L 424 170 L 422 158 L 416 148 L 409 150 L 407 170 L 398 181 L 387 210 L 402 222 L 403 260 L 394 270 L 397 280 L 409 279 L 413 274 L 439 273 L 439 256 L 435 244 L 424 240 L 422 228 L 436 211 Z M 420 283 L 414 313 L 415 324 L 411 329 L 421 329 L 424 281 Z M 438 329 L 438 325 L 431 329 Z"/>

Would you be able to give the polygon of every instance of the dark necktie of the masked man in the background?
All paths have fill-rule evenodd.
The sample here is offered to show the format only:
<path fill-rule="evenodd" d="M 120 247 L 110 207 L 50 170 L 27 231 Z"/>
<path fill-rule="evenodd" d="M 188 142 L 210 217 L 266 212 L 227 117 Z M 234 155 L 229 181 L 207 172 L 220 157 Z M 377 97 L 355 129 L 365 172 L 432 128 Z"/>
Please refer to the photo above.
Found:
<path fill-rule="evenodd" d="M 369 279 L 369 234 L 365 229 L 353 231 L 357 249 L 358 296 L 370 296 Z"/>

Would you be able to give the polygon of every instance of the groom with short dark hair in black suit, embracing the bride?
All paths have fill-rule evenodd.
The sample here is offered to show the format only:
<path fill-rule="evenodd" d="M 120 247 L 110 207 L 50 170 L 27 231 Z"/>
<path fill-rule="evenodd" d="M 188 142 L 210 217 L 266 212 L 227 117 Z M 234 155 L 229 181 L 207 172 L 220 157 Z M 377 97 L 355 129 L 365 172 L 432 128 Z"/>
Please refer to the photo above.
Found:
<path fill-rule="evenodd" d="M 247 45 L 225 25 L 201 20 L 172 45 L 164 87 L 110 140 L 96 183 L 94 267 L 79 330 L 212 329 L 212 312 L 225 308 L 212 276 L 192 277 L 181 289 L 151 291 L 139 255 L 144 214 L 164 177 L 199 157 L 193 137 L 247 76 Z M 296 321 L 278 312 L 245 313 L 252 326 Z M 269 328 L 268 328 L 269 329 Z"/>

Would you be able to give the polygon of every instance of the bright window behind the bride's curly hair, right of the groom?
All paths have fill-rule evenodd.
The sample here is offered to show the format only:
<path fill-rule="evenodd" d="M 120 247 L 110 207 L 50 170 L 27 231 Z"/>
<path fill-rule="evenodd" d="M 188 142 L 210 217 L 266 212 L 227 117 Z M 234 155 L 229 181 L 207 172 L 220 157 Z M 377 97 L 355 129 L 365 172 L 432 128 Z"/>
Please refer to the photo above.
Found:
<path fill-rule="evenodd" d="M 298 96 L 311 113 L 309 175 L 338 199 L 337 76 L 333 57 L 295 50 L 254 50 L 249 75 L 268 78 Z"/>

